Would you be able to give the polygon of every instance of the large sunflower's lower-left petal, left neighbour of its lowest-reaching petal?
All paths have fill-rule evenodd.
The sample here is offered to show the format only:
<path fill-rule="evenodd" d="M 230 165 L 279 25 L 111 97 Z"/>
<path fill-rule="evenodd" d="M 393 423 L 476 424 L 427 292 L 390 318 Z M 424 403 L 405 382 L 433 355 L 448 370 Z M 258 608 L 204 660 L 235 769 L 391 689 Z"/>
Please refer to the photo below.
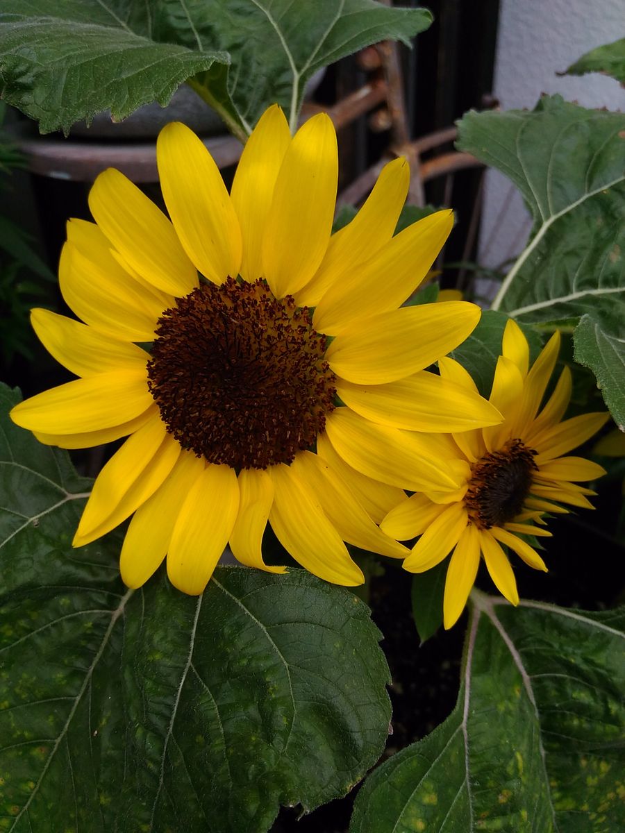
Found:
<path fill-rule="evenodd" d="M 119 568 L 128 587 L 140 587 L 158 570 L 165 557 L 173 527 L 204 462 L 182 451 L 172 471 L 143 506 L 139 506 L 123 541 Z"/>

